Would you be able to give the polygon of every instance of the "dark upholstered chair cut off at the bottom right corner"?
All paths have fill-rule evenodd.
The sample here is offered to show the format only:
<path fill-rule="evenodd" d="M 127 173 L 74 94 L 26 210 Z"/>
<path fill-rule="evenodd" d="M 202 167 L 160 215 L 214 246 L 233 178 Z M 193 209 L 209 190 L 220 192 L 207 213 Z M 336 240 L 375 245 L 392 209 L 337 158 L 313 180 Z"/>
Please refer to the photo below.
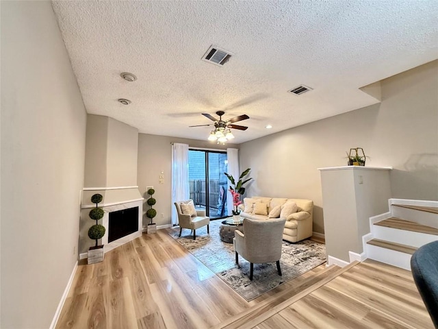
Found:
<path fill-rule="evenodd" d="M 435 328 L 438 328 L 438 241 L 418 248 L 411 258 L 412 276 Z"/>

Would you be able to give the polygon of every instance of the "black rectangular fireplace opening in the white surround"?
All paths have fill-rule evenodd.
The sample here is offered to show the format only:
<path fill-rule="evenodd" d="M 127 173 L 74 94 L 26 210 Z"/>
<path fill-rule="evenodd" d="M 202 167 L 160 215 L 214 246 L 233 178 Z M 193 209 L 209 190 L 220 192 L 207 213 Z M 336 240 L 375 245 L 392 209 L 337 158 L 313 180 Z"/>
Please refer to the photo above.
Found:
<path fill-rule="evenodd" d="M 108 243 L 138 231 L 138 207 L 110 212 Z"/>

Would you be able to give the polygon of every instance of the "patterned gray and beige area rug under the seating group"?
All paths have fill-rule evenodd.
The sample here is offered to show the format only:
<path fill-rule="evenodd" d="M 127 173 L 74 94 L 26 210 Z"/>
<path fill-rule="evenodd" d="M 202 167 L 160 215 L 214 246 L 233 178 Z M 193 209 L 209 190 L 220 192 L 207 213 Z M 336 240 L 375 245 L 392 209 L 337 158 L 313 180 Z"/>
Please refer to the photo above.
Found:
<path fill-rule="evenodd" d="M 210 222 L 210 234 L 207 227 L 196 230 L 195 241 L 187 229 L 183 229 L 181 238 L 179 228 L 170 228 L 169 234 L 248 302 L 326 261 L 326 247 L 321 243 L 283 241 L 280 260 L 283 276 L 279 276 L 275 263 L 254 264 L 254 278 L 250 281 L 248 261 L 239 257 L 240 267 L 235 265 L 233 243 L 220 241 L 221 222 L 221 219 Z"/>

